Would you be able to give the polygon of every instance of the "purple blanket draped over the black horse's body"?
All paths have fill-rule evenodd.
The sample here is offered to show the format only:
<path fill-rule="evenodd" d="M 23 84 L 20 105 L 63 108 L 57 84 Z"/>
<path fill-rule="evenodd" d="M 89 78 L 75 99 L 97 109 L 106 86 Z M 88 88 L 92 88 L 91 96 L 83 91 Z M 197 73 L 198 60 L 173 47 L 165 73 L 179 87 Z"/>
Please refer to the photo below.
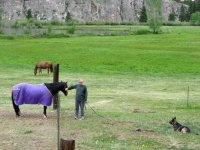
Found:
<path fill-rule="evenodd" d="M 42 104 L 51 106 L 53 95 L 44 84 L 20 83 L 13 86 L 13 99 L 16 105 Z"/>

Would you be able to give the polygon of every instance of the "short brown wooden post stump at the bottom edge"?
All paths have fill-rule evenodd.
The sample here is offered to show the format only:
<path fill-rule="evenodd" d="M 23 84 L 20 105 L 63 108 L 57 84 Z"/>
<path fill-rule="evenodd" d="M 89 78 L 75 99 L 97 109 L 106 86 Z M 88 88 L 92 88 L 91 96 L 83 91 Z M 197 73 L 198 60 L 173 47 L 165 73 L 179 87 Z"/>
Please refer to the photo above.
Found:
<path fill-rule="evenodd" d="M 75 140 L 60 139 L 60 150 L 75 150 Z"/>

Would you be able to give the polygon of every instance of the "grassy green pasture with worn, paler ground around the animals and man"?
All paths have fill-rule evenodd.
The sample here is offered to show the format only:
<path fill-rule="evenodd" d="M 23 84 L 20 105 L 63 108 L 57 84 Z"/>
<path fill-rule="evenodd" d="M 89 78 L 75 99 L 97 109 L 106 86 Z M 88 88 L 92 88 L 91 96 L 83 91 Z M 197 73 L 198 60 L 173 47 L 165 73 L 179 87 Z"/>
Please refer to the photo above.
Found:
<path fill-rule="evenodd" d="M 172 33 L 1 40 L 0 149 L 57 149 L 52 107 L 43 119 L 42 106 L 23 105 L 16 118 L 11 105 L 13 85 L 52 82 L 46 70 L 33 75 L 38 60 L 59 63 L 59 78 L 68 85 L 83 78 L 88 86 L 82 121 L 73 119 L 75 91 L 60 93 L 61 137 L 75 139 L 77 150 L 199 149 L 200 30 L 162 30 Z M 174 132 L 168 123 L 174 116 L 192 133 Z"/>

